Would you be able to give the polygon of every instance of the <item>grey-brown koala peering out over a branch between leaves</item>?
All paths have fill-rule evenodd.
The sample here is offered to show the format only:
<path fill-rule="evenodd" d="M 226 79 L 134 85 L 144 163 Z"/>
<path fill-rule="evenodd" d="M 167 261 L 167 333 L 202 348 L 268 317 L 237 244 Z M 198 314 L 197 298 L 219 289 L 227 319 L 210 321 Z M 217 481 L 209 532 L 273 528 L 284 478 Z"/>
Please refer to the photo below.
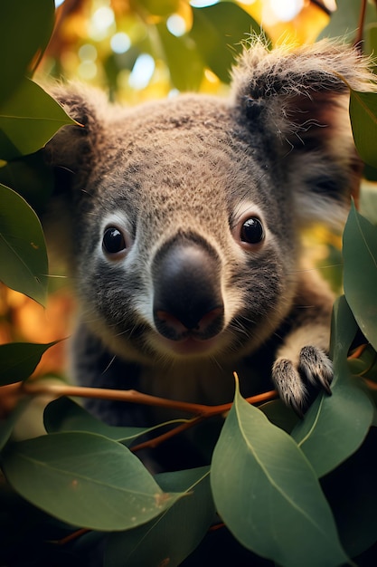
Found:
<path fill-rule="evenodd" d="M 79 125 L 44 154 L 56 174 L 45 229 L 74 283 L 71 372 L 81 385 L 203 404 L 272 383 L 301 416 L 330 392 L 333 293 L 303 262 L 302 228 L 340 226 L 361 163 L 349 89 L 363 56 L 323 41 L 246 46 L 228 98 L 133 108 L 57 86 Z M 114 425 L 167 413 L 91 401 Z M 159 410 L 160 412 L 162 410 Z"/>

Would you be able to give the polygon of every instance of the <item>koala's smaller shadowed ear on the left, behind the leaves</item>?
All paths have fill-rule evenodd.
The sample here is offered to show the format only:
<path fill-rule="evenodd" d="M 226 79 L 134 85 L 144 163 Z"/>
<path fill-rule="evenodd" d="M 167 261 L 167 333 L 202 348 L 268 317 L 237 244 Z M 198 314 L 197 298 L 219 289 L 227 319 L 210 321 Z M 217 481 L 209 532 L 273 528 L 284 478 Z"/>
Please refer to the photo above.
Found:
<path fill-rule="evenodd" d="M 106 95 L 82 85 L 56 86 L 50 90 L 78 124 L 63 126 L 42 150 L 54 170 L 54 190 L 42 214 L 42 226 L 52 258 L 67 266 L 74 263 L 75 238 L 80 234 L 75 216 L 87 192 L 90 173 L 102 150 Z M 82 227 L 80 227 L 82 230 Z"/>

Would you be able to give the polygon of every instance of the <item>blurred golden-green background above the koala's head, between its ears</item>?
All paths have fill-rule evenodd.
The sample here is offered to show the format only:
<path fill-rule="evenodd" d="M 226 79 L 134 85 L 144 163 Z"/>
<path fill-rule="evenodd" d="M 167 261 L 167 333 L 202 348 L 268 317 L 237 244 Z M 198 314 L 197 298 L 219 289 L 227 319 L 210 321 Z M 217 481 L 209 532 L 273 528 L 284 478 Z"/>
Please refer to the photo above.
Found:
<path fill-rule="evenodd" d="M 94 83 L 127 103 L 174 91 L 218 93 L 240 40 L 258 33 L 259 24 L 274 42 L 312 42 L 331 7 L 307 0 L 65 0 L 41 71 Z"/>

